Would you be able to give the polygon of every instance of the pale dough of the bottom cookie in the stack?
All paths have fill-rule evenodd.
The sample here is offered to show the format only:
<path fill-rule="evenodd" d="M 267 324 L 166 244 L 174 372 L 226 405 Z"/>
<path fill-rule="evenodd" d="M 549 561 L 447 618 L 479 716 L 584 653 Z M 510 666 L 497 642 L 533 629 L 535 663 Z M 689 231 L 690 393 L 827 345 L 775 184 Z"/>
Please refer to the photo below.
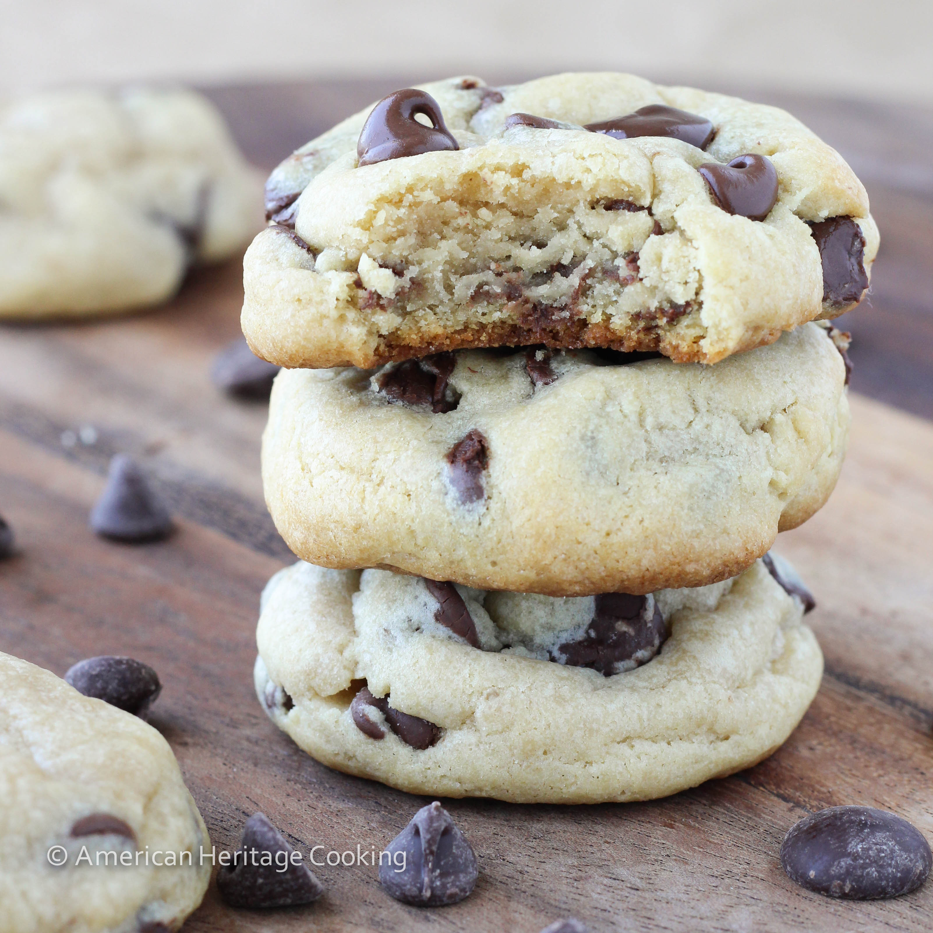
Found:
<path fill-rule="evenodd" d="M 800 600 L 762 562 L 703 590 L 648 597 L 670 636 L 652 660 L 608 676 L 535 653 L 592 613 L 592 598 L 458 590 L 481 648 L 436 623 L 424 580 L 310 564 L 280 572 L 257 632 L 256 689 L 272 721 L 329 767 L 411 793 L 638 801 L 772 754 L 823 671 Z M 387 698 L 377 701 L 384 716 L 369 705 L 361 718 L 358 701 L 354 716 L 364 687 Z M 404 741 L 397 711 L 426 720 L 433 743 Z"/>

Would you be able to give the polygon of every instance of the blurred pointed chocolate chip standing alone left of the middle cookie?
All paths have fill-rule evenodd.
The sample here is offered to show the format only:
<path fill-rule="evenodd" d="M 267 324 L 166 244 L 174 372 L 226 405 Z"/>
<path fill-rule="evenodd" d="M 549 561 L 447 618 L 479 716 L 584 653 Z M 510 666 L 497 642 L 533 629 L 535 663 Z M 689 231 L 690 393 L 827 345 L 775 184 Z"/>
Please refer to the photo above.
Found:
<path fill-rule="evenodd" d="M 168 508 L 125 453 L 110 461 L 104 492 L 91 509 L 91 528 L 129 543 L 156 541 L 172 531 Z"/>

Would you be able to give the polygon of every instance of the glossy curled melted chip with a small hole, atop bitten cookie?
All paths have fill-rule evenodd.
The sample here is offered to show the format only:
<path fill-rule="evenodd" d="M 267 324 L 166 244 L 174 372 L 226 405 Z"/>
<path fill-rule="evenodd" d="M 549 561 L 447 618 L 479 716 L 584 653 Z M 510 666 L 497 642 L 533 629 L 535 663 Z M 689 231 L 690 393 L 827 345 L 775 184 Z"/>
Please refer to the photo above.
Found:
<path fill-rule="evenodd" d="M 431 121 L 419 123 L 416 115 Z M 407 89 L 389 94 L 372 108 L 356 143 L 360 165 L 420 156 L 425 152 L 454 151 L 457 141 L 444 123 L 438 102 L 425 91 Z"/>

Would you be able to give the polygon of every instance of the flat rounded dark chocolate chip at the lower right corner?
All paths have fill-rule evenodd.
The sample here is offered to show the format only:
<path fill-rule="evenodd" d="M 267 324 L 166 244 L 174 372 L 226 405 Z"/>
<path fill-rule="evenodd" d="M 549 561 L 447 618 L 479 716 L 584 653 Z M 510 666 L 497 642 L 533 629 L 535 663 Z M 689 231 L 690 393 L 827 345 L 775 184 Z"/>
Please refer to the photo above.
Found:
<path fill-rule="evenodd" d="M 933 854 L 918 829 L 873 807 L 829 807 L 784 837 L 791 880 L 830 898 L 897 898 L 926 881 Z"/>

